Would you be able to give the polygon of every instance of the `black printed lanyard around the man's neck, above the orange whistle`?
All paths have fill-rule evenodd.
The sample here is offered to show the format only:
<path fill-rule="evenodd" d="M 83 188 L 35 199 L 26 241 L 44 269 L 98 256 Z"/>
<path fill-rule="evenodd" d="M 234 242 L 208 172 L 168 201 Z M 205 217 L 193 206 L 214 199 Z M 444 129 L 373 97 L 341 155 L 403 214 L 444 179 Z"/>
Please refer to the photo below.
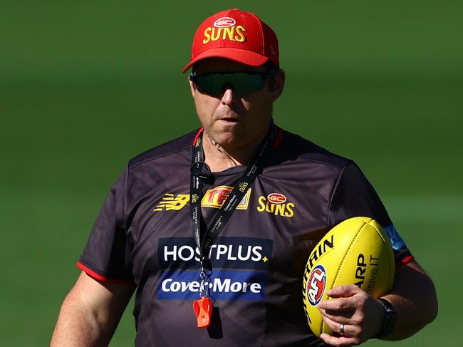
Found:
<path fill-rule="evenodd" d="M 222 207 L 219 209 L 219 212 L 215 215 L 212 223 L 206 229 L 206 223 L 202 218 L 201 212 L 201 200 L 202 200 L 202 187 L 203 180 L 207 175 L 202 175 L 204 163 L 204 151 L 202 147 L 202 133 L 199 134 L 197 140 L 193 144 L 193 156 L 192 156 L 192 175 L 191 175 L 191 185 L 190 185 L 190 202 L 189 202 L 189 212 L 192 220 L 192 228 L 194 232 L 194 240 L 196 241 L 199 253 L 200 253 L 200 263 L 202 271 L 204 271 L 203 260 L 205 254 L 209 252 L 210 247 L 214 243 L 214 240 L 217 239 L 219 234 L 225 227 L 225 224 L 229 221 L 231 214 L 233 214 L 236 206 L 243 199 L 246 192 L 251 187 L 252 182 L 256 180 L 259 171 L 262 169 L 262 163 L 264 157 L 269 150 L 269 147 L 274 142 L 275 131 L 274 123 L 271 122 L 269 131 L 266 134 L 266 137 L 259 146 L 256 155 L 254 156 L 251 164 L 246 168 L 243 175 L 239 178 L 233 190 L 231 190 L 229 196 L 222 204 Z"/>

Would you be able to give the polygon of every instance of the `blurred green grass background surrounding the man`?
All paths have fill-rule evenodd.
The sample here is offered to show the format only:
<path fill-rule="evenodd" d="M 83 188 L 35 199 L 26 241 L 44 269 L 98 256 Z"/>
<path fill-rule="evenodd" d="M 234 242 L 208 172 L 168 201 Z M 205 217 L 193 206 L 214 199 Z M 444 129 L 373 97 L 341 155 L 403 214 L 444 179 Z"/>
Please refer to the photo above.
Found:
<path fill-rule="evenodd" d="M 199 125 L 181 69 L 232 7 L 278 33 L 276 122 L 353 157 L 435 281 L 437 320 L 395 346 L 460 346 L 462 1 L 0 0 L 1 346 L 48 343 L 127 160 Z M 134 333 L 128 309 L 111 346 Z"/>

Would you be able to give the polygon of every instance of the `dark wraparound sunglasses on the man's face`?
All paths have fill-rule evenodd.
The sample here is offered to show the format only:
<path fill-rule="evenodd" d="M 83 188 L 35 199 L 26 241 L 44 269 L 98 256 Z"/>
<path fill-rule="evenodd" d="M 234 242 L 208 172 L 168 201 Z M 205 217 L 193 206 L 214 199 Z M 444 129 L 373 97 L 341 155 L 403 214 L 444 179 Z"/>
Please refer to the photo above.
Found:
<path fill-rule="evenodd" d="M 204 73 L 204 75 L 190 73 L 189 79 L 200 93 L 217 97 L 224 93 L 226 86 L 230 86 L 239 96 L 261 90 L 264 88 L 266 79 L 273 76 L 275 76 L 275 71 L 269 70 L 266 72 Z"/>

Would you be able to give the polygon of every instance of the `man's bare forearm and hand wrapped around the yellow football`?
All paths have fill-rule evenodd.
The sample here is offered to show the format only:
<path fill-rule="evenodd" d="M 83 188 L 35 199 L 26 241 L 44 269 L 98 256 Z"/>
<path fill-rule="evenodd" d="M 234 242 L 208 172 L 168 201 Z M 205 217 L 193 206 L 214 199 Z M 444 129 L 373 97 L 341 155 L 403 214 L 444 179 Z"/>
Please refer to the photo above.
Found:
<path fill-rule="evenodd" d="M 385 317 L 383 305 L 357 286 L 338 286 L 328 291 L 336 300 L 318 304 L 335 336 L 322 334 L 321 338 L 333 346 L 353 346 L 372 338 L 379 331 Z M 397 311 L 397 323 L 387 340 L 400 340 L 412 336 L 437 316 L 437 297 L 434 284 L 415 262 L 397 269 L 394 287 L 383 296 Z M 340 336 L 340 324 L 344 336 Z"/>

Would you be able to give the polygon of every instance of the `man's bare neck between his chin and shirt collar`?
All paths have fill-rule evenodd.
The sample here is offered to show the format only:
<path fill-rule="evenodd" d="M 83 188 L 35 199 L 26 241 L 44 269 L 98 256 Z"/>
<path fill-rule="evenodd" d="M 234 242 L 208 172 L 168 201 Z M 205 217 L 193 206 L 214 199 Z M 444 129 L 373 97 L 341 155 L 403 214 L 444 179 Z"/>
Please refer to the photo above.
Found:
<path fill-rule="evenodd" d="M 254 158 L 261 141 L 243 147 L 222 147 L 207 133 L 203 134 L 204 161 L 212 172 L 227 170 L 235 166 L 247 166 Z"/>

